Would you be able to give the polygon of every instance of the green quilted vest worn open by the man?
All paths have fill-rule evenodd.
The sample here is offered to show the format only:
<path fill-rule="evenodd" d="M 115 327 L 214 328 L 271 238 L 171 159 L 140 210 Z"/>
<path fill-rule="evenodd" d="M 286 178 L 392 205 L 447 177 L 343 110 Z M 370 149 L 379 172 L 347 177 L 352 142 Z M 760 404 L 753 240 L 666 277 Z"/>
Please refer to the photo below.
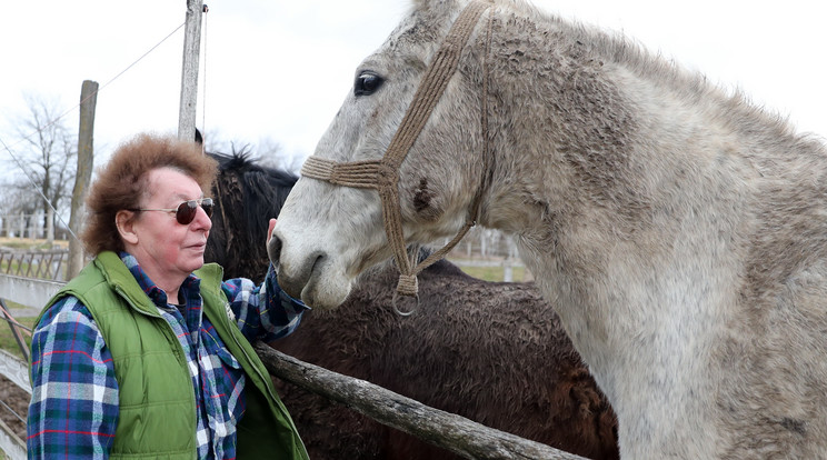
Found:
<path fill-rule="evenodd" d="M 196 276 L 201 278 L 205 314 L 247 373 L 237 458 L 307 460 L 269 373 L 227 316 L 221 268 L 206 264 Z M 120 418 L 111 458 L 193 459 L 196 400 L 187 358 L 172 328 L 118 254 L 101 252 L 43 311 L 64 296 L 77 297 L 89 309 L 112 353 Z"/>

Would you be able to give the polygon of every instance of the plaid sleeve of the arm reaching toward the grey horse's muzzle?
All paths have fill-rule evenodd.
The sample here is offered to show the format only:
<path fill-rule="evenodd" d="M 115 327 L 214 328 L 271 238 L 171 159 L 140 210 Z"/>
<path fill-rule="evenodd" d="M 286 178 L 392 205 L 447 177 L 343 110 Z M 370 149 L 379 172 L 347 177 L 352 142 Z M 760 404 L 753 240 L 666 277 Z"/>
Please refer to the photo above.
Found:
<path fill-rule="evenodd" d="M 301 314 L 310 310 L 279 288 L 272 264 L 260 286 L 246 278 L 233 278 L 223 282 L 223 290 L 238 328 L 249 341 L 270 342 L 288 336 L 299 326 Z"/>

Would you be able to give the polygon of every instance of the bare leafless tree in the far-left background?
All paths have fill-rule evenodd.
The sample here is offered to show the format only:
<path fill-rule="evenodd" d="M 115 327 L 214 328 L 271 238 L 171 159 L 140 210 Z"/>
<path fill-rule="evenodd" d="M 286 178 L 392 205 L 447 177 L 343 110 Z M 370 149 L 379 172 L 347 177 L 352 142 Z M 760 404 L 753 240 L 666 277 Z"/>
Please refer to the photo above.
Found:
<path fill-rule="evenodd" d="M 33 191 L 21 193 L 43 210 L 43 228 L 48 228 L 50 208 L 60 212 L 60 204 L 71 197 L 77 169 L 77 139 L 73 130 L 61 119 L 57 99 L 24 96 L 28 113 L 14 122 L 21 142 L 17 168 L 23 169 L 27 180 L 16 180 L 11 186 Z M 32 183 L 37 190 L 31 190 Z M 21 203 L 23 206 L 23 203 Z M 31 202 L 23 207 L 31 207 Z"/>

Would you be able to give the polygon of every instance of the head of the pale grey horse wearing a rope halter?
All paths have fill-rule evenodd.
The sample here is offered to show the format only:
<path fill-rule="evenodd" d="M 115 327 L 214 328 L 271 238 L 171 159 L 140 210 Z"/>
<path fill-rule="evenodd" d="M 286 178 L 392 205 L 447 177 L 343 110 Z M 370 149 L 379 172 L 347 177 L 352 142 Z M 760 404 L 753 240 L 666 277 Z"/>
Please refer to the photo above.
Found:
<path fill-rule="evenodd" d="M 352 90 L 311 157 L 322 167 L 378 164 L 377 182 L 389 182 L 398 193 L 390 207 L 399 212 L 402 248 L 462 230 L 480 196 L 488 3 L 479 3 L 479 11 L 466 24 L 467 41 L 452 46 L 456 67 L 442 76 L 441 94 L 422 109 L 428 113 L 420 117 L 421 126 L 398 130 L 417 117 L 409 110 L 415 99 L 432 89 L 420 81 L 434 73 L 440 42 L 465 11 L 462 2 L 416 2 L 379 50 L 359 64 Z M 399 144 L 405 146 L 401 154 L 382 162 Z M 315 308 L 332 308 L 361 271 L 393 254 L 383 231 L 389 209 L 382 208 L 381 189 L 318 180 L 308 177 L 307 166 L 285 203 L 269 253 L 280 264 L 282 289 Z"/>

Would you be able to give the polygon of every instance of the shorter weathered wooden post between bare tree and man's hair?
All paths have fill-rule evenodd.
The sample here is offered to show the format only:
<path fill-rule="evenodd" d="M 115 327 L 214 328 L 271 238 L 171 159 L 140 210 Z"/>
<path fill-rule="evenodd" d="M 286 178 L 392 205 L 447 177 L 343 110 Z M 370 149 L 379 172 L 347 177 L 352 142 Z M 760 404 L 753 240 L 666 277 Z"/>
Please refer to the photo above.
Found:
<path fill-rule="evenodd" d="M 84 220 L 82 213 L 83 198 L 92 179 L 94 158 L 94 109 L 98 104 L 98 82 L 83 80 L 80 88 L 80 128 L 78 130 L 78 172 L 74 176 L 72 189 L 72 209 L 69 216 L 69 230 L 72 234 L 80 233 L 80 223 Z M 83 246 L 77 238 L 69 237 L 69 263 L 66 279 L 70 280 L 83 268 Z"/>

